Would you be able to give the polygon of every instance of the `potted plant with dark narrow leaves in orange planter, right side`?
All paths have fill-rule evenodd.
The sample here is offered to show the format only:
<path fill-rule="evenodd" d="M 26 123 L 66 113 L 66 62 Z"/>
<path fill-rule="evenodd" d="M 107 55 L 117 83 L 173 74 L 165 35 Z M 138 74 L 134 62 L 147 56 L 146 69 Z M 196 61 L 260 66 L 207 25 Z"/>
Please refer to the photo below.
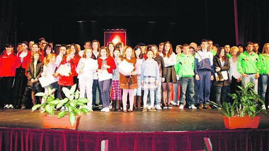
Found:
<path fill-rule="evenodd" d="M 263 109 L 263 100 L 260 95 L 253 90 L 255 84 L 249 82 L 245 84 L 242 80 L 243 87 L 236 93 L 231 94 L 232 104 L 223 102 L 222 105 L 211 102 L 213 106 L 223 115 L 225 128 L 258 128 L 260 123 L 259 113 L 266 113 Z"/>

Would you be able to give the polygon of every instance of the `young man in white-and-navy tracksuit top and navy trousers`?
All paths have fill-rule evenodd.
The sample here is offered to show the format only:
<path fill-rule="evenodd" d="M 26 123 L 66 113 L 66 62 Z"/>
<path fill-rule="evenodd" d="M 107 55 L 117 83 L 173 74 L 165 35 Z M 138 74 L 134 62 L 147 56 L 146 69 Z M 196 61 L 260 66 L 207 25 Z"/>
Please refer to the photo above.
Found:
<path fill-rule="evenodd" d="M 195 53 L 195 79 L 198 86 L 198 104 L 199 109 L 202 109 L 205 105 L 207 109 L 211 109 L 209 106 L 209 96 L 211 89 L 211 81 L 214 80 L 214 67 L 213 67 L 213 55 L 207 49 L 207 40 L 201 40 L 201 50 Z"/>

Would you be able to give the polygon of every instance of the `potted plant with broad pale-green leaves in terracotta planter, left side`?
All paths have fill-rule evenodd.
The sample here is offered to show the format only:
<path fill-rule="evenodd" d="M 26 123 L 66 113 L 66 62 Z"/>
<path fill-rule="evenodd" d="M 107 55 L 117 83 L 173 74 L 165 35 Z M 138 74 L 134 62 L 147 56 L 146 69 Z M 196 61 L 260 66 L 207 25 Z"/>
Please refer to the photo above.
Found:
<path fill-rule="evenodd" d="M 32 112 L 39 108 L 41 113 L 47 112 L 48 115 L 42 116 L 44 128 L 64 128 L 77 129 L 79 125 L 81 113 L 92 112 L 90 106 L 85 105 L 89 102 L 87 98 L 79 98 L 79 90 L 76 90 L 76 84 L 70 88 L 63 88 L 66 98 L 54 98 L 53 89 L 48 89 L 48 95 L 43 92 L 36 93 L 36 96 L 42 96 L 45 102 L 36 104 L 32 107 Z M 66 110 L 62 110 L 54 115 L 54 110 L 60 109 L 62 106 L 68 109 L 69 118 L 65 117 Z"/>

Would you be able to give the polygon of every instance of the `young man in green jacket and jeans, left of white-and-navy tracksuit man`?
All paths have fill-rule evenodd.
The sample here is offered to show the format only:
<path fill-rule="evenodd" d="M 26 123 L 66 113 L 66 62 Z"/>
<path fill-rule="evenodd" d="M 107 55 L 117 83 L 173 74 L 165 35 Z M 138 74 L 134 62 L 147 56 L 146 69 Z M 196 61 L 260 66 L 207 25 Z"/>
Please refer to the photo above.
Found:
<path fill-rule="evenodd" d="M 188 103 L 190 104 L 190 109 L 197 109 L 194 106 L 194 67 L 195 59 L 189 53 L 189 45 L 183 45 L 183 53 L 177 57 L 177 64 L 175 65 L 176 74 L 180 79 L 180 106 L 179 109 L 184 108 L 186 91 L 188 97 Z M 188 88 L 188 90 L 187 90 Z"/>

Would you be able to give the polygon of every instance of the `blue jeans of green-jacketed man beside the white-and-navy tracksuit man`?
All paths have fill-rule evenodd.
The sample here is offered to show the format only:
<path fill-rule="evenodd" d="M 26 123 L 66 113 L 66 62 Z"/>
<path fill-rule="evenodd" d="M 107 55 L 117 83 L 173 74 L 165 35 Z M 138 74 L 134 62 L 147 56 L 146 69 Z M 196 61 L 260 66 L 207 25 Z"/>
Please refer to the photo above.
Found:
<path fill-rule="evenodd" d="M 186 91 L 188 91 L 188 101 L 194 104 L 194 79 L 193 77 L 181 77 L 180 79 L 180 104 L 185 104 Z M 188 88 L 188 89 L 187 89 Z"/>

